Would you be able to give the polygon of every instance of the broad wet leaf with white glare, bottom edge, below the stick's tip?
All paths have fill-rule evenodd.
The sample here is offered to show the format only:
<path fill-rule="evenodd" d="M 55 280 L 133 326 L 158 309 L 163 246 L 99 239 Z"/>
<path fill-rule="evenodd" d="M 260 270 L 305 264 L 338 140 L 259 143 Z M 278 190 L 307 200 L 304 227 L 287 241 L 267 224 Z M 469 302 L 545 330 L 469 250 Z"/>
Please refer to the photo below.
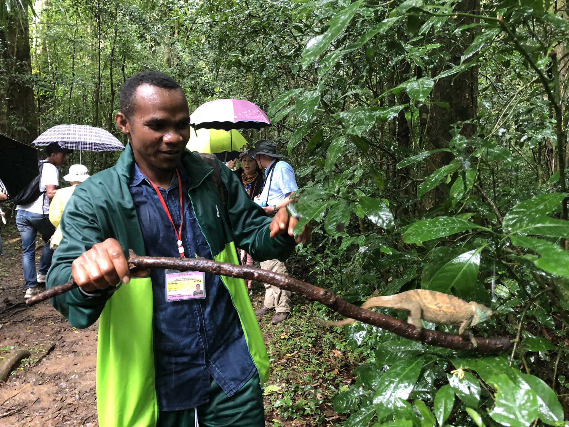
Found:
<path fill-rule="evenodd" d="M 504 373 L 491 377 L 488 384 L 498 391 L 490 417 L 500 424 L 529 427 L 539 413 L 536 393 L 518 387 Z"/>

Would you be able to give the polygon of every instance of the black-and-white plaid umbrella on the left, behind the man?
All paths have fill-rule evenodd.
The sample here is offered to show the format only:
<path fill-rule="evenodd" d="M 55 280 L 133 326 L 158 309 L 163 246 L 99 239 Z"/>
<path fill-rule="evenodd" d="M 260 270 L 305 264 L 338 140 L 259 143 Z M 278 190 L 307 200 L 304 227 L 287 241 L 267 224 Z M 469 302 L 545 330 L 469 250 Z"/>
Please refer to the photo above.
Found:
<path fill-rule="evenodd" d="M 38 147 L 50 145 L 52 142 L 65 142 L 71 150 L 85 151 L 122 151 L 125 147 L 121 141 L 105 129 L 85 125 L 57 125 L 42 133 L 34 141 Z"/>

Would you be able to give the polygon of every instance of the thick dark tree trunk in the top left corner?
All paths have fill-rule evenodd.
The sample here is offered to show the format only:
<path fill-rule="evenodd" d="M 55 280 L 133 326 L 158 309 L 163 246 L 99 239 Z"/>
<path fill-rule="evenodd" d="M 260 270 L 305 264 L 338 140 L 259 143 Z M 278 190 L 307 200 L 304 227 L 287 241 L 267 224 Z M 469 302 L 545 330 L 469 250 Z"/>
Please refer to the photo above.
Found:
<path fill-rule="evenodd" d="M 0 77 L 0 133 L 20 142 L 31 143 L 38 136 L 38 114 L 31 81 L 30 31 L 28 10 L 11 0 L 7 30 L 0 31 L 0 61 L 4 64 Z M 4 96 L 4 94 L 6 94 Z"/>

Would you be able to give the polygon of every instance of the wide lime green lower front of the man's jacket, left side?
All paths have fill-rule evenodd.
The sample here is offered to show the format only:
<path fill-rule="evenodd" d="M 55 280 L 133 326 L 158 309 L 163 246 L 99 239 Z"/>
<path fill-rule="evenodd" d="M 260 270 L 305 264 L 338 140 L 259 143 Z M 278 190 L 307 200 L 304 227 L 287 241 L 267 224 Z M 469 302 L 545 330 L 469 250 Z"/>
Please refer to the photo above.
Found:
<path fill-rule="evenodd" d="M 122 284 L 99 318 L 97 414 L 101 427 L 149 427 L 158 420 L 149 277 Z"/>

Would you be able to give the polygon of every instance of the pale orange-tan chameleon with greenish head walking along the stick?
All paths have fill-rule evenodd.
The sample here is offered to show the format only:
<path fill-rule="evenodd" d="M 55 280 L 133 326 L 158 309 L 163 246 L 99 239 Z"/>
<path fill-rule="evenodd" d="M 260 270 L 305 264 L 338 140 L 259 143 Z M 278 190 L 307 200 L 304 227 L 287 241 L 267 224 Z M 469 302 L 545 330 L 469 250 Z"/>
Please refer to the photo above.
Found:
<path fill-rule="evenodd" d="M 476 340 L 469 331 L 471 326 L 485 322 L 494 312 L 488 307 L 453 295 L 427 289 L 414 289 L 386 297 L 373 297 L 364 302 L 362 309 L 371 307 L 389 307 L 409 312 L 407 323 L 415 326 L 417 331 L 422 329 L 421 320 L 439 323 L 440 325 L 460 325 L 459 335 L 468 336 L 473 346 Z M 328 322 L 328 326 L 343 326 L 354 322 L 354 319 L 344 319 L 339 322 Z"/>

